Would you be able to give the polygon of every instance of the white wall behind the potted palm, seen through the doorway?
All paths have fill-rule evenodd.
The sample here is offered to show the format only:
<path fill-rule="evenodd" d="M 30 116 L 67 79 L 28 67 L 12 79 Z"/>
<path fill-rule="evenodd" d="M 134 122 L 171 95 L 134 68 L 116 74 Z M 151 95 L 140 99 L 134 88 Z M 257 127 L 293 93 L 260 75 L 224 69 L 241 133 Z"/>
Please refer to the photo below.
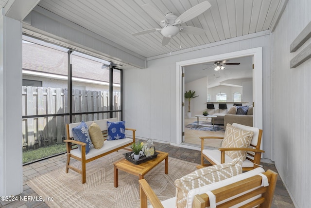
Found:
<path fill-rule="evenodd" d="M 185 84 L 185 90 L 195 91 L 195 95 L 199 95 L 198 97 L 190 99 L 190 111 L 192 114 L 191 117 L 194 117 L 194 115 L 201 115 L 204 111 L 206 111 L 207 77 L 188 82 Z M 188 112 L 188 103 L 188 99 L 185 98 L 185 116 L 187 116 Z"/>

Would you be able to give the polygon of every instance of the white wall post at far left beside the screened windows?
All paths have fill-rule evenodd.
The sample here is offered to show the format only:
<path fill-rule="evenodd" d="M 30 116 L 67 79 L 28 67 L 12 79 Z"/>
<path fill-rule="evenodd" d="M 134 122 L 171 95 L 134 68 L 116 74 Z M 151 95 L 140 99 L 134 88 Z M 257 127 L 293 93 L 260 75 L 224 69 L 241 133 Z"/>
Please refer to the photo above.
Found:
<path fill-rule="evenodd" d="M 23 190 L 21 60 L 21 23 L 0 14 L 0 196 Z"/>

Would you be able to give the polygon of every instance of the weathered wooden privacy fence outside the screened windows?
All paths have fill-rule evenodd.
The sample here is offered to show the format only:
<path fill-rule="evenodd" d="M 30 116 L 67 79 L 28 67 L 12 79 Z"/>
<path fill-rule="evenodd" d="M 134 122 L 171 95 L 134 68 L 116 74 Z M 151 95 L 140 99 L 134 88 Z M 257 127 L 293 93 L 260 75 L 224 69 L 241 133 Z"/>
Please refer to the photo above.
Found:
<path fill-rule="evenodd" d="M 85 113 L 72 116 L 72 122 L 108 118 L 108 113 L 94 113 L 109 109 L 108 95 L 104 91 L 72 90 L 72 112 Z M 113 96 L 113 110 L 120 110 L 119 92 Z M 22 119 L 23 151 L 63 143 L 69 115 L 48 115 L 62 113 L 69 113 L 67 89 L 23 86 L 22 115 L 31 116 Z"/>

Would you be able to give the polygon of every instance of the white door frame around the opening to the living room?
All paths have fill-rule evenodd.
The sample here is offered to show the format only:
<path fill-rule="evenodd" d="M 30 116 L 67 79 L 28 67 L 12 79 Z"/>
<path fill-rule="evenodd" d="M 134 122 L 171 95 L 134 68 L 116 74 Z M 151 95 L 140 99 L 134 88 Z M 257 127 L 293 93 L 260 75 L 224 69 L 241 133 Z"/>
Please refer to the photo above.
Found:
<path fill-rule="evenodd" d="M 176 62 L 176 144 L 182 143 L 182 116 L 184 116 L 182 111 L 183 92 L 181 92 L 183 89 L 182 67 L 216 60 L 248 56 L 254 56 L 253 96 L 255 106 L 253 113 L 253 125 L 259 129 L 262 129 L 262 47 L 258 47 L 226 54 L 214 55 L 210 57 L 195 58 Z"/>

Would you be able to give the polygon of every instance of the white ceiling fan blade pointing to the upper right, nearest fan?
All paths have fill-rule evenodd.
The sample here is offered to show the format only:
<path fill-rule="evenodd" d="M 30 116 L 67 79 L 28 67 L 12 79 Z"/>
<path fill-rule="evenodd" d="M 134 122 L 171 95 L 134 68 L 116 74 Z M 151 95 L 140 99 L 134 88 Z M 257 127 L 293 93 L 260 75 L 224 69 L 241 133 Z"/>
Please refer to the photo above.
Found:
<path fill-rule="evenodd" d="M 183 22 L 189 21 L 190 19 L 193 19 L 203 12 L 205 12 L 209 7 L 211 7 L 210 3 L 208 1 L 203 1 L 202 3 L 199 3 L 190 9 L 188 9 L 186 12 L 181 14 L 176 20 L 175 24 L 181 24 Z"/>

